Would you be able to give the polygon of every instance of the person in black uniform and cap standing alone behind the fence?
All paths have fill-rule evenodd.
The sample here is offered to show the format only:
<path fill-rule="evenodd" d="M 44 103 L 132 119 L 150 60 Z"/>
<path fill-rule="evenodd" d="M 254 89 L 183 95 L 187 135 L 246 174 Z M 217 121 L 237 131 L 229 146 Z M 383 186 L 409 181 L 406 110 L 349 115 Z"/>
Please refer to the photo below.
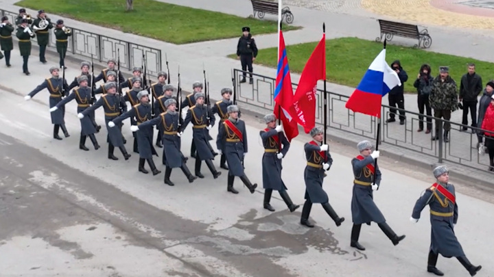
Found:
<path fill-rule="evenodd" d="M 257 57 L 257 46 L 255 44 L 254 38 L 250 34 L 249 27 L 242 27 L 243 36 L 239 38 L 239 43 L 237 44 L 237 57 L 242 63 L 242 70 L 244 70 L 244 77 L 240 80 L 240 83 L 245 83 L 246 70 L 252 73 L 252 62 L 255 61 Z M 252 79 L 252 74 L 249 75 L 249 83 L 254 83 Z"/>

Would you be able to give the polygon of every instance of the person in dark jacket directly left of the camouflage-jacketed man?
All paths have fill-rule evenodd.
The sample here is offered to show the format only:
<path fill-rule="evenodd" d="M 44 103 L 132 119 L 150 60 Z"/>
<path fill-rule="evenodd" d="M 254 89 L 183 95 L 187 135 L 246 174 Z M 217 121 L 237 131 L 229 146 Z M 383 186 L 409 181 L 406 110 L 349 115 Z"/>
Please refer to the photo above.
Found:
<path fill-rule="evenodd" d="M 429 94 L 432 90 L 432 81 L 434 77 L 431 75 L 431 68 L 428 64 L 423 64 L 419 70 L 419 75 L 414 82 L 414 87 L 417 89 L 417 105 L 419 105 L 419 129 L 417 132 L 423 131 L 423 113 L 424 107 L 427 116 L 432 116 L 432 109 L 429 105 Z M 427 129 L 425 133 L 430 133 L 432 130 L 432 118 L 427 118 Z"/>

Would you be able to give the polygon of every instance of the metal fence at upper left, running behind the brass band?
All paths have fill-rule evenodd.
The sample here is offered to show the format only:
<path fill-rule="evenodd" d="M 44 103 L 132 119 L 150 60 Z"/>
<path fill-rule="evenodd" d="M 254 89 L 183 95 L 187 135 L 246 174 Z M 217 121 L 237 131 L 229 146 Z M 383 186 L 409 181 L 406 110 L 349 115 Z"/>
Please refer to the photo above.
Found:
<path fill-rule="evenodd" d="M 15 19 L 18 15 L 16 12 L 0 10 L 1 16 L 7 16 L 9 22 L 15 25 Z M 33 20 L 36 18 L 33 18 Z M 56 23 L 56 19 L 51 17 L 51 22 Z M 69 26 L 67 26 L 69 27 Z M 69 46 L 67 52 L 73 55 L 80 55 L 99 62 L 107 62 L 111 58 L 117 60 L 120 58 L 120 66 L 132 70 L 134 66 L 143 65 L 143 56 L 145 57 L 146 69 L 148 74 L 157 77 L 161 71 L 161 50 L 151 47 L 145 47 L 134 42 L 127 42 L 117 38 L 111 38 L 102 34 L 91 33 L 82 29 L 69 27 L 72 31 L 72 36 L 69 36 Z M 55 48 L 56 38 L 53 31 L 49 31 L 48 47 Z M 15 31 L 12 33 L 12 38 L 16 40 Z M 32 38 L 36 42 L 37 38 Z M 118 57 L 120 55 L 120 57 Z"/>

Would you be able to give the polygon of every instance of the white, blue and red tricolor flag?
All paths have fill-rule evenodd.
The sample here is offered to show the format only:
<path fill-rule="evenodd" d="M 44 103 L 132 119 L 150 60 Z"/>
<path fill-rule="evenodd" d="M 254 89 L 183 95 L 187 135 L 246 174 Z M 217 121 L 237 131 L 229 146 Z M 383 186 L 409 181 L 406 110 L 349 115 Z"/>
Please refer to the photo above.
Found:
<path fill-rule="evenodd" d="M 397 85 L 401 85 L 401 81 L 397 72 L 386 63 L 385 48 L 369 66 L 345 107 L 354 112 L 381 118 L 382 97 Z"/>

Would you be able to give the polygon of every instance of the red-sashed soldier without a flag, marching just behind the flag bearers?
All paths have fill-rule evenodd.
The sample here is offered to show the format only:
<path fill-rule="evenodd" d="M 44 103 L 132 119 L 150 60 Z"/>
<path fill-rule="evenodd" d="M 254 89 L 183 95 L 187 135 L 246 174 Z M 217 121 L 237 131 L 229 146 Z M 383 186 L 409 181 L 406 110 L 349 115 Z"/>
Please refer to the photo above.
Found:
<path fill-rule="evenodd" d="M 237 190 L 233 188 L 233 181 L 235 181 L 235 176 L 239 176 L 250 193 L 253 194 L 257 184 L 252 185 L 244 172 L 244 157 L 248 151 L 245 122 L 238 118 L 239 108 L 237 105 L 228 106 L 227 112 L 228 119 L 221 124 L 220 131 L 218 131 L 218 140 L 216 141 L 218 151 L 225 155 L 226 161 L 228 161 L 226 191 L 238 194 Z"/>

